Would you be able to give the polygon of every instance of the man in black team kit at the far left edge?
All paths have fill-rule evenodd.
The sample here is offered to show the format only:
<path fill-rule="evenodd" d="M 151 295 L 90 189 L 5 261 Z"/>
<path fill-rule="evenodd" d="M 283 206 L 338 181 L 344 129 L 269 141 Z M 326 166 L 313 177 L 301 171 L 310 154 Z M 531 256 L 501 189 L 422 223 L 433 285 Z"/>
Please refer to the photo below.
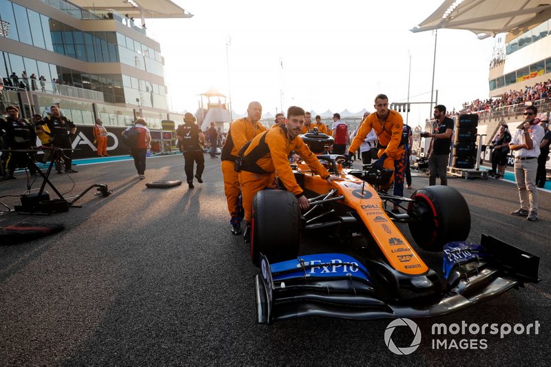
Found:
<path fill-rule="evenodd" d="M 34 132 L 34 126 L 24 118 L 19 118 L 19 108 L 8 106 L 6 108 L 8 117 L 0 118 L 0 134 L 3 134 L 3 140 L 8 149 L 32 149 L 37 145 L 37 133 Z M 5 132 L 5 133 L 3 133 Z M 23 151 L 10 151 L 6 168 L 8 169 L 6 179 L 14 179 L 14 171 L 17 166 L 28 167 L 30 174 L 36 174 L 36 169 L 32 164 L 32 155 Z"/>

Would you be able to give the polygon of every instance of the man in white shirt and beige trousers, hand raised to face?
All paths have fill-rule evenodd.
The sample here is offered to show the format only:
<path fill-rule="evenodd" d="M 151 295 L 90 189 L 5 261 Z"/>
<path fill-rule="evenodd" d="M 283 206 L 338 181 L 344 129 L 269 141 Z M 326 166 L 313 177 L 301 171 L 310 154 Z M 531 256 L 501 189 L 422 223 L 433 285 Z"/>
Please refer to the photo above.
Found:
<path fill-rule="evenodd" d="M 512 136 L 509 148 L 514 151 L 514 177 L 519 188 L 521 208 L 512 211 L 512 216 L 522 216 L 534 221 L 538 218 L 538 189 L 536 173 L 538 168 L 539 142 L 543 138 L 543 127 L 536 117 L 535 106 L 524 109 L 524 123 Z"/>

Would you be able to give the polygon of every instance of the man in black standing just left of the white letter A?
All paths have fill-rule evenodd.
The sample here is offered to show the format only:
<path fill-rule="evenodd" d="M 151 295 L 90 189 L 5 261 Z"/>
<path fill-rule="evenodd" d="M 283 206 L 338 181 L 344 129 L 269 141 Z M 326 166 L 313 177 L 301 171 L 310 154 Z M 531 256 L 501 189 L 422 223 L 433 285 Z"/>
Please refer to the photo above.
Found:
<path fill-rule="evenodd" d="M 52 146 L 61 149 L 67 149 L 63 151 L 56 151 L 56 171 L 58 174 L 61 172 L 61 158 L 65 163 L 65 172 L 70 174 L 76 174 L 74 169 L 71 168 L 73 151 L 71 146 L 71 136 L 76 132 L 76 126 L 74 123 L 67 117 L 61 116 L 59 107 L 56 105 L 50 106 L 51 114 L 46 116 L 40 125 L 48 126 L 50 132 L 45 132 L 45 134 L 52 137 Z M 40 126 L 37 129 L 41 129 Z"/>

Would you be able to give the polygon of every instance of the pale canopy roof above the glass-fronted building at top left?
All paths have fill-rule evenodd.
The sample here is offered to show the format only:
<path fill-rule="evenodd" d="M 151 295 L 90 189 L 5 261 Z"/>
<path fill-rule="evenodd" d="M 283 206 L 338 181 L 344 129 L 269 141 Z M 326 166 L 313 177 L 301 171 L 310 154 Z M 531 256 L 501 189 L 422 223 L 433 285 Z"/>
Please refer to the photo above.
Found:
<path fill-rule="evenodd" d="M 112 9 L 129 17 L 141 18 L 191 18 L 194 15 L 185 12 L 170 0 L 71 0 L 76 6 L 85 9 Z"/>

